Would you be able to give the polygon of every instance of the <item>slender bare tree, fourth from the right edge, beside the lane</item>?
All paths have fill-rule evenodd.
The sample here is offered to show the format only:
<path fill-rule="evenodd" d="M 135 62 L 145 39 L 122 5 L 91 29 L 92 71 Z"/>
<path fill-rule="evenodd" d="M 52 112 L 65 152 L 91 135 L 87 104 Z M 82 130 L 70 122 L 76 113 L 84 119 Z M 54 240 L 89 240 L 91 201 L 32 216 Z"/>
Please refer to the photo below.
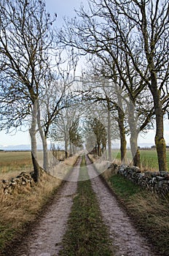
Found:
<path fill-rule="evenodd" d="M 107 143 L 108 143 L 108 159 L 111 161 L 111 140 L 117 138 L 116 117 L 113 111 L 114 91 L 112 90 L 112 81 L 103 77 L 95 75 L 95 68 L 88 67 L 88 72 L 83 76 L 83 86 L 81 93 L 83 100 L 87 106 L 90 104 L 89 116 L 93 116 L 93 108 L 98 109 L 100 119 L 102 119 L 104 126 L 107 130 Z M 115 99 L 114 99 L 115 101 Z M 95 103 L 98 103 L 96 105 Z M 99 106 L 99 107 L 98 107 Z M 85 108 L 85 106 L 84 106 Z M 89 108 L 88 108 L 89 109 Z"/>

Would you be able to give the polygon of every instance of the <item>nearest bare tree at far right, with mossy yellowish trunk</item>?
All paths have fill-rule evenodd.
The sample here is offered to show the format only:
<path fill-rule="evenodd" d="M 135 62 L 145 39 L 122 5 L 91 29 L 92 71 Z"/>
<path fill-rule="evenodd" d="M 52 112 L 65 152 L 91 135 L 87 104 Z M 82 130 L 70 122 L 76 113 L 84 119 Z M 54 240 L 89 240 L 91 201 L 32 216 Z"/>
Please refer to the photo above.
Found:
<path fill-rule="evenodd" d="M 122 51 L 130 58 L 142 85 L 147 85 L 152 93 L 159 170 L 167 170 L 163 114 L 169 96 L 168 1 L 132 1 L 131 4 L 127 1 L 114 1 L 110 4 L 104 0 L 101 6 L 104 14 L 114 24 L 122 43 Z"/>

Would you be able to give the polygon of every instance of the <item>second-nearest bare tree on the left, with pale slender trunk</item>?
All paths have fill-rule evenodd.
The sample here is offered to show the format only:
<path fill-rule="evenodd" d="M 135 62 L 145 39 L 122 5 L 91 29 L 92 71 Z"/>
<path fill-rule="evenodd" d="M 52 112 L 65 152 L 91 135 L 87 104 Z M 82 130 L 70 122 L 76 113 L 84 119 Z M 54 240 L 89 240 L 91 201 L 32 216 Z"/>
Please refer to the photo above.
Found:
<path fill-rule="evenodd" d="M 39 94 L 38 102 L 38 128 L 42 138 L 44 151 L 44 170 L 48 171 L 47 138 L 50 133 L 50 126 L 53 121 L 58 120 L 60 111 L 73 104 L 74 96 L 71 87 L 74 84 L 76 63 L 78 59 L 65 53 L 64 61 L 59 57 L 56 71 L 45 75 L 44 89 Z M 64 65 L 62 65 L 64 64 Z M 63 67 L 62 67 L 63 66 Z"/>

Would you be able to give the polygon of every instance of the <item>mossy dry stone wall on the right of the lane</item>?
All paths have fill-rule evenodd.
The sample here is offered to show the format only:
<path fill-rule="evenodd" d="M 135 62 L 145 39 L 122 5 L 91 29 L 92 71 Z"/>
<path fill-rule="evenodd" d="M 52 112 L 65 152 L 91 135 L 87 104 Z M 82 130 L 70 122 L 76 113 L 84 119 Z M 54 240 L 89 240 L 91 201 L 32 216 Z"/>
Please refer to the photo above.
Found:
<path fill-rule="evenodd" d="M 138 167 L 127 165 L 111 164 L 108 168 L 110 173 L 119 173 L 125 178 L 133 181 L 139 186 L 149 189 L 158 195 L 169 196 L 169 172 L 152 172 L 146 171 L 144 173 Z"/>

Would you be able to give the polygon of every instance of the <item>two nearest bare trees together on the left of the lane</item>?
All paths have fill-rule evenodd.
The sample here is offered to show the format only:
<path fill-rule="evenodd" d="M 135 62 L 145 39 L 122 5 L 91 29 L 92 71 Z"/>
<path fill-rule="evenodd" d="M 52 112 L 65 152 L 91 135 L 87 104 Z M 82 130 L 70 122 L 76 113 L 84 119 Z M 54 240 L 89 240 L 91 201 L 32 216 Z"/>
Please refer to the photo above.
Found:
<path fill-rule="evenodd" d="M 0 2 L 1 129 L 23 127 L 29 123 L 34 180 L 39 180 L 36 134 L 40 133 L 44 151 L 44 170 L 48 170 L 47 136 L 60 110 L 72 98 L 76 58 L 64 53 L 55 40 L 53 24 L 40 0 Z"/>

